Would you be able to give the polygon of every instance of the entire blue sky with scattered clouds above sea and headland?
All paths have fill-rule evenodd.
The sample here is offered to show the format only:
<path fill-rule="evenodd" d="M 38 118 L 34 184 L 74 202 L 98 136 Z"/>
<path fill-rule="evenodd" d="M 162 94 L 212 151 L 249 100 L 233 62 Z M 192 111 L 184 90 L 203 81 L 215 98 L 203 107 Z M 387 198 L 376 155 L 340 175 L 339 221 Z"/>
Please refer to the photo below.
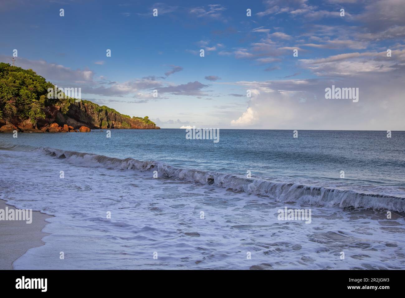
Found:
<path fill-rule="evenodd" d="M 404 16 L 404 0 L 0 0 L 0 62 L 17 49 L 16 66 L 161 128 L 405 130 Z"/>

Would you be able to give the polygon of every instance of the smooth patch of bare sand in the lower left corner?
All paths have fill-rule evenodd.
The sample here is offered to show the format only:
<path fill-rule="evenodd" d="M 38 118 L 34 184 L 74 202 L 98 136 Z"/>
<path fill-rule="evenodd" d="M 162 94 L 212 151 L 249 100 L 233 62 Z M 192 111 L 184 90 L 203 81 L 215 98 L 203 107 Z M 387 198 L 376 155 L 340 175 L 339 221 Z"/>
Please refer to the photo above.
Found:
<path fill-rule="evenodd" d="M 0 200 L 0 209 L 5 210 L 6 207 L 15 210 L 15 207 Z M 32 211 L 31 224 L 21 220 L 0 220 L 0 270 L 13 270 L 13 262 L 28 249 L 45 245 L 41 239 L 49 234 L 42 230 L 49 224 L 45 221 L 49 217 L 53 216 Z"/>

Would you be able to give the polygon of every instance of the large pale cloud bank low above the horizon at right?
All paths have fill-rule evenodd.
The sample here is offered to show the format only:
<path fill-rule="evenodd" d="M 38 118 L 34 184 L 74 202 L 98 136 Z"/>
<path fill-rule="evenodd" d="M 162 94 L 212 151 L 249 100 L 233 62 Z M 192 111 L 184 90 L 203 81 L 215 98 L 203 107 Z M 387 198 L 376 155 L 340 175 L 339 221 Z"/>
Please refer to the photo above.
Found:
<path fill-rule="evenodd" d="M 339 79 L 237 82 L 255 95 L 230 124 L 267 129 L 404 130 L 401 77 L 392 70 Z M 332 85 L 359 88 L 359 101 L 325 99 L 325 89 Z"/>

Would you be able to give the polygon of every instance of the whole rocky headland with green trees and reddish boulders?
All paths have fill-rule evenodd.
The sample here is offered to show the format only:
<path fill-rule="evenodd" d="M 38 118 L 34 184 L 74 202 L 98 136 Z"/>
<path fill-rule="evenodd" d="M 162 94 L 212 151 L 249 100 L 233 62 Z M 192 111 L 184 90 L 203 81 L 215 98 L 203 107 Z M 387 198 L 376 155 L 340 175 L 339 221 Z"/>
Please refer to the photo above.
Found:
<path fill-rule="evenodd" d="M 0 132 L 87 131 L 88 128 L 159 129 L 148 117 L 122 115 L 66 94 L 49 96 L 55 86 L 32 69 L 0 62 Z M 87 129 L 82 128 L 87 127 Z M 80 130 L 81 129 L 81 130 Z"/>

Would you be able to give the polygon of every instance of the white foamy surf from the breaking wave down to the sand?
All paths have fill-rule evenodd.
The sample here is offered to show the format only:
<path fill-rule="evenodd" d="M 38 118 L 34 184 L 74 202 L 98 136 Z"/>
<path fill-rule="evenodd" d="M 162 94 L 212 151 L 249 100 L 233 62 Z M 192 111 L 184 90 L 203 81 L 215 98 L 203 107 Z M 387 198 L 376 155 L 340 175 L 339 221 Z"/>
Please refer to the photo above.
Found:
<path fill-rule="evenodd" d="M 30 249 L 15 269 L 405 269 L 405 223 L 395 213 L 386 219 L 385 211 L 348 211 L 337 203 L 289 203 L 296 189 L 305 190 L 294 184 L 272 188 L 153 161 L 28 150 L 0 151 L 1 198 L 55 217 L 43 230 L 50 233 L 45 245 Z M 153 179 L 156 169 L 173 178 Z M 309 202 L 326 194 L 305 196 Z M 311 224 L 277 220 L 285 206 L 312 209 Z"/>

